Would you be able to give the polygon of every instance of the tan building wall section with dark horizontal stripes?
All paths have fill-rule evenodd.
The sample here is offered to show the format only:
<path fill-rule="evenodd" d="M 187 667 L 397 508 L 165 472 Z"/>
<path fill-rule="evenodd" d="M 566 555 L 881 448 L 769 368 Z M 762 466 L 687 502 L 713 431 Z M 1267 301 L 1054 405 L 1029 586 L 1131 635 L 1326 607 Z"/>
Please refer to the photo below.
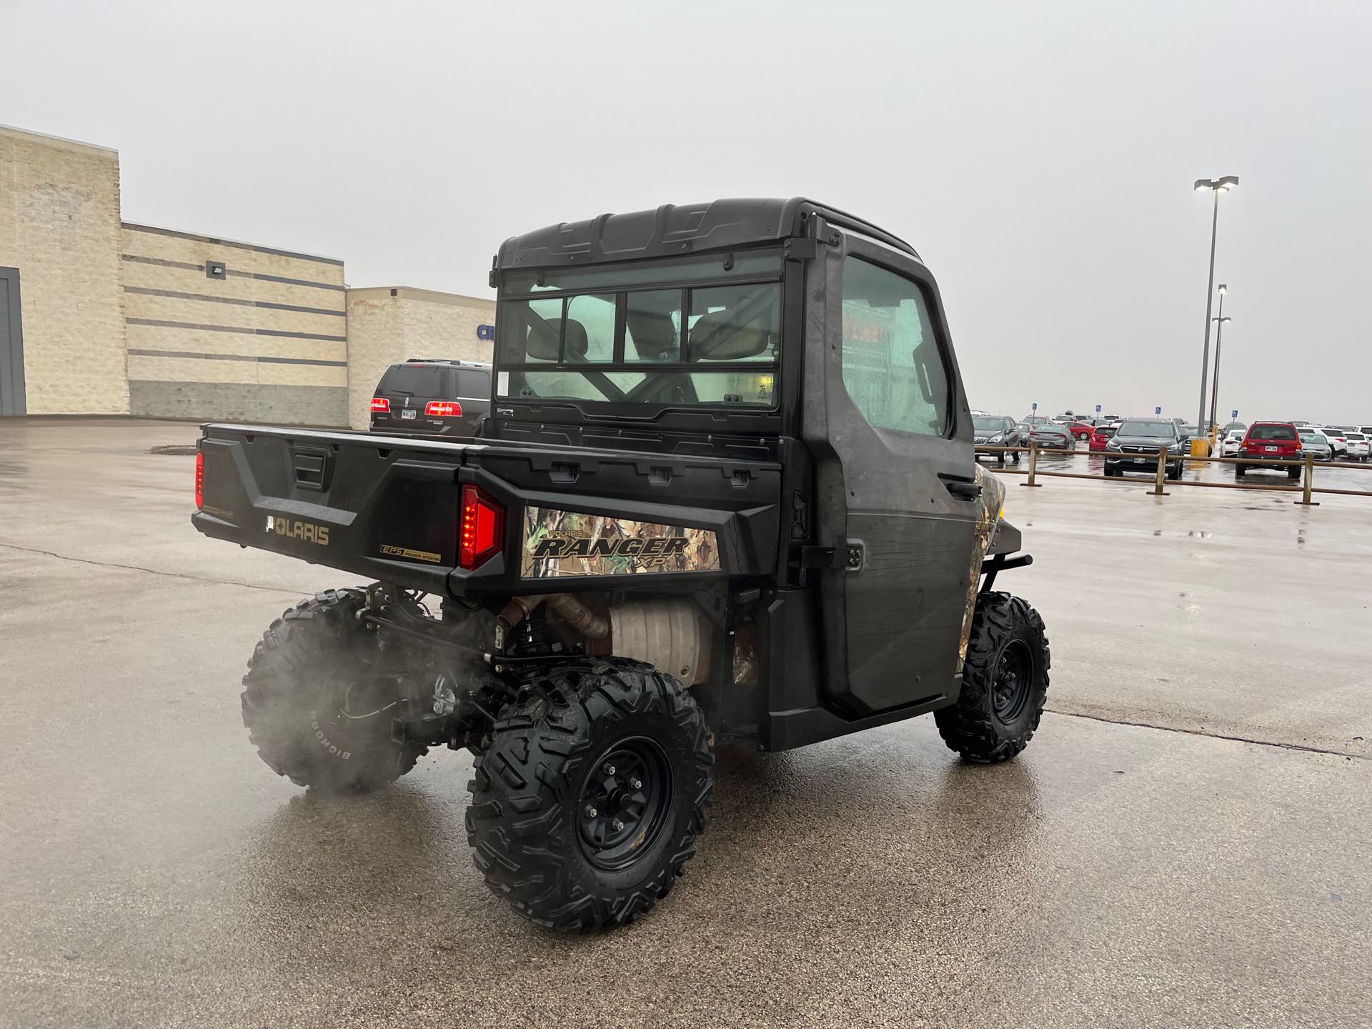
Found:
<path fill-rule="evenodd" d="M 121 257 L 134 416 L 347 424 L 342 261 L 132 224 Z"/>

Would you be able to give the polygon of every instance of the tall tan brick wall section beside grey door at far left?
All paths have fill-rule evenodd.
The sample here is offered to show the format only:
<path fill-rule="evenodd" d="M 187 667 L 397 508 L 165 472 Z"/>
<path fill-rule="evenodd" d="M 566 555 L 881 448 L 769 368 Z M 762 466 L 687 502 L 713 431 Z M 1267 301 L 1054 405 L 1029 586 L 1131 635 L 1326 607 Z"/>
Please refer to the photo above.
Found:
<path fill-rule="evenodd" d="M 0 265 L 19 269 L 27 413 L 128 413 L 118 152 L 0 126 Z"/>

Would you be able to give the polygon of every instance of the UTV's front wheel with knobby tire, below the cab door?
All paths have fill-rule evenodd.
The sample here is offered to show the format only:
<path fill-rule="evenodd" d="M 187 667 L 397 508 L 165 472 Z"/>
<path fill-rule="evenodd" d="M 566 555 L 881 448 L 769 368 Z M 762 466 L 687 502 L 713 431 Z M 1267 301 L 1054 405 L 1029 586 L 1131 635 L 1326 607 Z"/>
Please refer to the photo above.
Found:
<path fill-rule="evenodd" d="M 971 617 L 958 701 L 934 712 L 938 734 L 963 760 L 995 764 L 1029 745 L 1048 694 L 1048 637 L 1019 597 L 982 593 Z"/>

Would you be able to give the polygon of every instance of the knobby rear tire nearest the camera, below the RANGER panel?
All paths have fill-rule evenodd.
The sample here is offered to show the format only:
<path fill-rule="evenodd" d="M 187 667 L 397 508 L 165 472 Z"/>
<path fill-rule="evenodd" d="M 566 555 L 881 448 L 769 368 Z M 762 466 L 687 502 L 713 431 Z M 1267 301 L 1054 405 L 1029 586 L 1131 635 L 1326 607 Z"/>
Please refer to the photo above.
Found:
<path fill-rule="evenodd" d="M 469 783 L 486 885 L 547 929 L 632 922 L 696 853 L 713 741 L 691 696 L 626 659 L 563 665 L 501 712 Z"/>

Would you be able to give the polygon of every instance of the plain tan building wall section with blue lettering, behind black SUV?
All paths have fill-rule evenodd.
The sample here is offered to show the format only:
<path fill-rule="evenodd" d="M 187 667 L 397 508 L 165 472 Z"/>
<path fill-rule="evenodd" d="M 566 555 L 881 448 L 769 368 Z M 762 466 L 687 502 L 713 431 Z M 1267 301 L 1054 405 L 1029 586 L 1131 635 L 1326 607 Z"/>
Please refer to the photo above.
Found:
<path fill-rule="evenodd" d="M 366 428 L 387 366 L 412 357 L 490 361 L 493 343 L 477 325 L 495 321 L 495 303 L 407 287 L 347 291 L 348 424 Z"/>

